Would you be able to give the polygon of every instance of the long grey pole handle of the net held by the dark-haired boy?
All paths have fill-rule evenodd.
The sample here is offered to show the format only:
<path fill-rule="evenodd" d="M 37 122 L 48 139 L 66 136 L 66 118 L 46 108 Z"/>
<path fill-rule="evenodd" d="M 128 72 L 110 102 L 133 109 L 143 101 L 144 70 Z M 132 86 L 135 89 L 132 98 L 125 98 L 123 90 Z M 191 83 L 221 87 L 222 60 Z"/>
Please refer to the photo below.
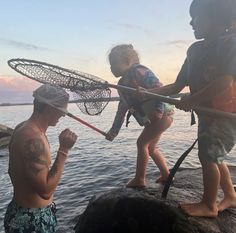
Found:
<path fill-rule="evenodd" d="M 138 90 L 132 87 L 127 87 L 127 86 L 122 86 L 122 85 L 115 85 L 115 84 L 109 84 L 107 83 L 108 87 L 111 88 L 115 88 L 118 90 L 123 90 L 126 92 L 137 92 Z M 162 102 L 168 103 L 168 104 L 173 104 L 173 105 L 178 105 L 180 103 L 180 100 L 171 98 L 171 97 L 167 97 L 167 96 L 163 96 L 163 95 L 159 95 L 156 93 L 152 93 L 149 91 L 142 91 L 144 94 L 147 94 L 148 96 L 154 97 L 155 99 L 158 99 Z M 211 109 L 211 108 L 206 108 L 206 107 L 202 107 L 202 106 L 197 106 L 197 105 L 193 105 L 192 106 L 192 110 L 194 110 L 197 113 L 203 113 L 203 114 L 207 114 L 207 115 L 211 115 L 214 117 L 222 117 L 222 118 L 230 118 L 230 119 L 236 119 L 236 114 L 235 113 L 230 113 L 230 112 L 223 112 L 220 110 L 216 110 L 216 109 Z"/>

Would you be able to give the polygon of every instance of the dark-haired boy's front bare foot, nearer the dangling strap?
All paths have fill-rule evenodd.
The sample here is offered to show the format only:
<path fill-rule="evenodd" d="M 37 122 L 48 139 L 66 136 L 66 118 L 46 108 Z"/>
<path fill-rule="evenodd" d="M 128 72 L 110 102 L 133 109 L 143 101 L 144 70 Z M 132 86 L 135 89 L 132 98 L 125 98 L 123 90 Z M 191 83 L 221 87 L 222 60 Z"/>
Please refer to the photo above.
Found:
<path fill-rule="evenodd" d="M 204 202 L 180 204 L 180 207 L 190 216 L 215 218 L 218 215 L 216 206 L 211 209 Z"/>

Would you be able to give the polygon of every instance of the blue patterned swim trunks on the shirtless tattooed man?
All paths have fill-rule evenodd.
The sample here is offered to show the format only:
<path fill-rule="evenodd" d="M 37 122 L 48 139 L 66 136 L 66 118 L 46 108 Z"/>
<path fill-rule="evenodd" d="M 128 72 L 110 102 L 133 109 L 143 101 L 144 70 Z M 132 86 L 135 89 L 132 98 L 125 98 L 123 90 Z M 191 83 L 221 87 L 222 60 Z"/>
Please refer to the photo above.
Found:
<path fill-rule="evenodd" d="M 7 207 L 4 218 L 6 233 L 53 233 L 57 225 L 56 206 L 23 208 L 14 201 Z"/>

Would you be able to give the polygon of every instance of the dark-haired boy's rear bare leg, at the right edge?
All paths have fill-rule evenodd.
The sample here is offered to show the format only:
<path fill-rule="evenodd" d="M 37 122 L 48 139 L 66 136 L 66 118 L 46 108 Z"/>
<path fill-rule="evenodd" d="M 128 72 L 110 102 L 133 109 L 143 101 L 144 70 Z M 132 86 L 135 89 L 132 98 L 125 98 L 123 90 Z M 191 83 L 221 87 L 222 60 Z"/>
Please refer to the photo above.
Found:
<path fill-rule="evenodd" d="M 218 165 L 220 171 L 220 185 L 224 192 L 223 200 L 218 204 L 218 211 L 227 208 L 236 208 L 236 193 L 231 180 L 230 172 L 227 165 L 223 162 Z"/>

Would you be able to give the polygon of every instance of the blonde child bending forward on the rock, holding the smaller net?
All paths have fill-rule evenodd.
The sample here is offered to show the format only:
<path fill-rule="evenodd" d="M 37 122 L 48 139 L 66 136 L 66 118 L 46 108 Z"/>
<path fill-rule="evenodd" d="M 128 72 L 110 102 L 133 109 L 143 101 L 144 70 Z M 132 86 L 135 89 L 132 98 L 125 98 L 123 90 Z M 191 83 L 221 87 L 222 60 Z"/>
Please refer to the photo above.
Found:
<path fill-rule="evenodd" d="M 115 77 L 121 77 L 118 84 L 137 88 L 154 88 L 162 86 L 155 74 L 139 62 L 137 52 L 130 44 L 117 45 L 109 54 L 111 72 Z M 119 91 L 120 102 L 114 123 L 108 132 L 107 140 L 112 141 L 119 133 L 130 110 L 144 129 L 137 140 L 137 164 L 135 177 L 129 181 L 127 187 L 145 187 L 145 174 L 149 156 L 160 170 L 161 176 L 156 182 L 165 182 L 169 169 L 157 143 L 162 133 L 173 121 L 173 108 L 156 100 L 140 101 L 135 94 Z"/>

